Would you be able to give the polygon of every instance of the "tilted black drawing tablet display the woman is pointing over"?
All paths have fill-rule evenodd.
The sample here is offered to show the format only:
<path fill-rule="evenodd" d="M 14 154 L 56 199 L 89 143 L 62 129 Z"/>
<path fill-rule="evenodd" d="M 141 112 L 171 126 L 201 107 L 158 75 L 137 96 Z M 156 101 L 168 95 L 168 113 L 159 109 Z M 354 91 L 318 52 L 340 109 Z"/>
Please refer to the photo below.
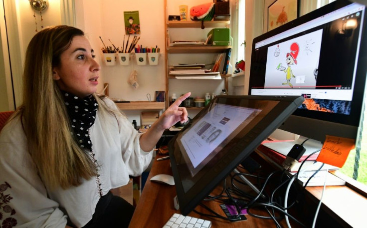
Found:
<path fill-rule="evenodd" d="M 169 143 L 181 214 L 191 212 L 302 104 L 302 96 L 216 96 Z"/>

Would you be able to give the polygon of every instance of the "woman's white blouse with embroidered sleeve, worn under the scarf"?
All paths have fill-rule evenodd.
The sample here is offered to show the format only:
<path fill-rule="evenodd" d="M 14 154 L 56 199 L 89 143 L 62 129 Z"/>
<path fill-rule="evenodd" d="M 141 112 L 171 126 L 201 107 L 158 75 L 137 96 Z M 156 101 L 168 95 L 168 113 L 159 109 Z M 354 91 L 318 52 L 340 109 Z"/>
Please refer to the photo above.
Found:
<path fill-rule="evenodd" d="M 117 109 L 113 101 L 105 101 Z M 20 119 L 5 125 L 0 133 L 0 224 L 9 228 L 65 228 L 68 216 L 75 226 L 83 227 L 92 219 L 100 195 L 126 185 L 129 175 L 140 175 L 152 160 L 152 152 L 140 148 L 142 134 L 124 116 L 108 118 L 101 121 L 97 111 L 89 129 L 91 156 L 98 164 L 99 177 L 54 191 L 49 191 L 37 174 Z"/>

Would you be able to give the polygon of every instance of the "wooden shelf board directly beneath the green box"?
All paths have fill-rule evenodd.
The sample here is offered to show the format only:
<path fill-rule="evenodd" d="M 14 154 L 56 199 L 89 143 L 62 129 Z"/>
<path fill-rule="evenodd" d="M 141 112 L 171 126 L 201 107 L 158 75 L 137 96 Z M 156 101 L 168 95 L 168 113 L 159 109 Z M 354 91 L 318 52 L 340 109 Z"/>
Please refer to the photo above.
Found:
<path fill-rule="evenodd" d="M 172 54 L 187 54 L 187 53 L 219 53 L 225 52 L 232 46 L 175 46 L 167 47 L 167 52 Z"/>

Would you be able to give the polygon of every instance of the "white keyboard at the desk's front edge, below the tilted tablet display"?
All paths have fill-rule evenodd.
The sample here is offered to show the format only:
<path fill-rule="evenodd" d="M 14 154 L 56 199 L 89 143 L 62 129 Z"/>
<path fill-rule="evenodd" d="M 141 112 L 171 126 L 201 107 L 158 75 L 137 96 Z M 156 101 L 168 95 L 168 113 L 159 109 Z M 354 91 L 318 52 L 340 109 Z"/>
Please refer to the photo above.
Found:
<path fill-rule="evenodd" d="M 175 213 L 163 228 L 210 228 L 211 222 Z"/>

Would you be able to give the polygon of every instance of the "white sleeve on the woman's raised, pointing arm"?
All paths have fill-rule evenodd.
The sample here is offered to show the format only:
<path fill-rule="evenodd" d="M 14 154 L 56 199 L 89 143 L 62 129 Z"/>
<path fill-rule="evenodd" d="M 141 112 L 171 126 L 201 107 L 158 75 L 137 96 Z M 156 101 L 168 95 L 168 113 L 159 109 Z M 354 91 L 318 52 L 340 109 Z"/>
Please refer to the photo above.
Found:
<path fill-rule="evenodd" d="M 118 110 L 112 100 L 105 99 L 105 102 L 112 109 Z M 139 176 L 151 163 L 153 150 L 145 152 L 141 149 L 140 137 L 144 133 L 139 133 L 134 129 L 132 123 L 125 116 L 121 115 L 117 119 L 123 161 L 128 169 L 129 175 Z"/>

